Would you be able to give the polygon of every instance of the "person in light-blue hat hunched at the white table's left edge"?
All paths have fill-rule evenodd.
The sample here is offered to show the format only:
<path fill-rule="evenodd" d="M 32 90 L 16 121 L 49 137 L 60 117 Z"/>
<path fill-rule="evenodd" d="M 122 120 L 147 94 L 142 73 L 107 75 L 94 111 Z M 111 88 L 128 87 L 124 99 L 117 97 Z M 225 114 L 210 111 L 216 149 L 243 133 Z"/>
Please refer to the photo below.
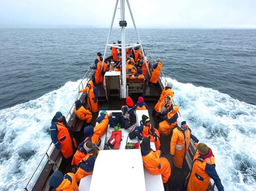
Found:
<path fill-rule="evenodd" d="M 106 110 L 100 113 L 100 116 L 96 119 L 99 123 L 94 127 L 94 133 L 100 138 L 107 133 L 109 115 Z"/>

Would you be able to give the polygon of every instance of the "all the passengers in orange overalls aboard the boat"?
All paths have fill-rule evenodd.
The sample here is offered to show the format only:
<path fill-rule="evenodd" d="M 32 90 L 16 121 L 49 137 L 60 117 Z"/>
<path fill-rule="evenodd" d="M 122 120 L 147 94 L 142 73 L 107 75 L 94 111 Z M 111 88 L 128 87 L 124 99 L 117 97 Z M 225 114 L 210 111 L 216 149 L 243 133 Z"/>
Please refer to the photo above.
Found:
<path fill-rule="evenodd" d="M 119 44 L 121 42 L 118 42 Z M 119 54 L 121 50 L 119 49 Z M 117 49 L 112 47 L 113 60 L 115 62 L 115 71 L 121 71 L 121 60 L 118 56 Z M 143 55 L 139 50 L 139 47 L 133 49 L 127 49 L 126 55 L 126 76 L 132 78 L 137 76 L 148 76 L 148 70 L 144 66 L 145 61 Z M 95 83 L 102 81 L 101 53 L 97 53 L 97 59 L 92 69 L 95 69 Z M 103 72 L 111 70 L 111 65 L 103 64 Z M 158 76 L 162 63 L 160 59 L 157 59 L 157 64 L 153 65 L 153 72 L 150 78 L 151 83 L 157 83 Z M 179 117 L 179 106 L 173 105 L 172 98 L 174 92 L 172 90 L 173 84 L 167 83 L 164 87 L 159 100 L 154 107 L 155 121 L 159 124 L 156 129 L 151 123 L 149 116 L 142 115 L 142 120 L 139 126 L 135 126 L 132 133 L 134 138 L 138 138 L 141 141 L 139 148 L 141 149 L 142 161 L 144 167 L 151 174 L 161 174 L 162 182 L 166 190 L 168 190 L 168 181 L 171 176 L 171 165 L 165 158 L 167 155 L 172 156 L 173 168 L 179 171 L 183 168 L 185 156 L 188 152 L 190 139 L 194 141 L 196 147 L 196 154 L 193 159 L 191 171 L 188 174 L 185 183 L 184 191 L 204 191 L 207 190 L 210 179 L 212 178 L 219 191 L 224 191 L 224 187 L 221 184 L 221 180 L 215 170 L 215 158 L 212 150 L 204 143 L 199 143 L 199 140 L 191 133 L 191 129 L 187 125 L 186 121 Z M 61 112 L 57 112 L 52 119 L 52 125 L 50 126 L 50 135 L 53 144 L 57 149 L 62 152 L 65 159 L 72 157 L 71 165 L 73 173 L 67 173 L 65 175 L 60 171 L 54 172 L 49 179 L 49 185 L 55 190 L 71 191 L 78 190 L 78 185 L 81 178 L 93 173 L 94 164 L 97 159 L 97 155 L 100 152 L 100 137 L 107 133 L 108 124 L 110 118 L 108 113 L 104 110 L 97 117 L 98 122 L 95 127 L 90 125 L 93 119 L 93 115 L 98 112 L 98 90 L 94 86 L 93 81 L 89 81 L 87 87 L 79 90 L 79 93 L 87 92 L 87 104 L 88 109 L 83 106 L 81 100 L 77 100 L 74 106 L 74 113 L 77 118 L 85 121 L 84 128 L 85 139 L 79 144 L 76 144 L 76 140 L 73 138 L 72 129 L 67 125 L 65 116 Z M 121 107 L 124 117 L 125 129 L 128 129 L 136 123 L 136 110 L 147 110 L 148 105 L 144 102 L 143 97 L 139 97 L 137 103 L 132 101 L 131 97 L 126 97 L 126 104 Z M 125 120 L 128 119 L 128 123 L 125 124 Z M 133 122 L 132 122 L 133 121 Z M 170 151 L 167 153 L 160 142 L 161 136 L 171 136 Z M 130 136 L 130 134 L 129 134 Z M 131 136 L 130 136 L 131 138 Z M 132 139 L 132 138 L 131 138 Z M 150 142 L 154 142 L 156 151 L 150 148 Z M 76 152 L 73 154 L 73 148 L 76 148 Z"/>

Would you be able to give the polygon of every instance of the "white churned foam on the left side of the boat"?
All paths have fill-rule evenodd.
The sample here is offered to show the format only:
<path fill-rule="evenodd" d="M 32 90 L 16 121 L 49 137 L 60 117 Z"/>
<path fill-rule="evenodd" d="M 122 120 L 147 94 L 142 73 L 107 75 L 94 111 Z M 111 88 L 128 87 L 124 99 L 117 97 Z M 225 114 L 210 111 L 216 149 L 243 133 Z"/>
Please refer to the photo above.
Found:
<path fill-rule="evenodd" d="M 0 142 L 0 190 L 22 190 L 50 144 L 49 127 L 54 114 L 61 111 L 67 116 L 80 82 L 67 82 L 36 100 L 0 110 L 0 134 L 5 133 Z M 25 151 L 35 154 L 24 160 L 19 154 L 29 154 Z M 10 156 L 8 160 L 3 158 L 4 153 Z"/>

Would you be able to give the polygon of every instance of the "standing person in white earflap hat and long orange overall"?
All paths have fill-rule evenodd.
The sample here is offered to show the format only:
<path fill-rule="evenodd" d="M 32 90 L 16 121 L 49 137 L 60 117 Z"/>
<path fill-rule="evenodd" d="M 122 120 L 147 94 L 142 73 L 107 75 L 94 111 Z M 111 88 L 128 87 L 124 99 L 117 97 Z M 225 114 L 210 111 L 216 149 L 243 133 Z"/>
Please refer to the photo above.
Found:
<path fill-rule="evenodd" d="M 190 138 L 198 142 L 198 139 L 191 134 L 191 129 L 186 125 L 186 121 L 179 117 L 177 119 L 177 126 L 173 129 L 170 151 L 170 154 L 173 156 L 173 164 L 177 168 L 182 168 L 183 166 L 187 149 L 189 149 Z"/>

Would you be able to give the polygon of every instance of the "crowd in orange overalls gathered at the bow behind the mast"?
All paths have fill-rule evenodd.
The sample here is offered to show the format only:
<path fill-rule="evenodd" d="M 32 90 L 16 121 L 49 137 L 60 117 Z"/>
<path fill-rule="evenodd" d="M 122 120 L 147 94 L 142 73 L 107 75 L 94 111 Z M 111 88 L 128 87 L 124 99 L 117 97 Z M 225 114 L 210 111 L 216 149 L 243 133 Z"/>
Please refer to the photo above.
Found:
<path fill-rule="evenodd" d="M 116 44 L 115 42 L 113 44 Z M 118 44 L 121 44 L 121 41 L 118 41 Z M 120 46 L 120 45 L 119 45 Z M 114 64 L 114 71 L 121 71 L 122 72 L 122 50 L 121 48 L 118 49 L 116 47 L 111 47 L 113 62 Z M 148 69 L 149 68 L 149 61 L 147 61 L 147 65 L 144 61 L 143 54 L 139 46 L 133 48 L 126 49 L 125 52 L 125 61 L 126 61 L 126 78 L 130 79 L 144 79 L 148 78 Z M 103 76 L 105 72 L 111 71 L 112 66 L 110 62 L 106 63 L 102 58 L 102 54 L 100 52 L 97 53 L 97 58 L 94 61 L 94 64 L 90 67 L 91 69 L 95 70 L 95 83 L 99 84 L 103 81 Z M 101 70 L 103 64 L 103 68 Z M 156 63 L 152 66 L 152 74 L 150 77 L 149 82 L 154 85 L 158 81 L 158 77 L 160 75 L 162 68 L 162 62 L 160 58 L 157 58 Z"/>

